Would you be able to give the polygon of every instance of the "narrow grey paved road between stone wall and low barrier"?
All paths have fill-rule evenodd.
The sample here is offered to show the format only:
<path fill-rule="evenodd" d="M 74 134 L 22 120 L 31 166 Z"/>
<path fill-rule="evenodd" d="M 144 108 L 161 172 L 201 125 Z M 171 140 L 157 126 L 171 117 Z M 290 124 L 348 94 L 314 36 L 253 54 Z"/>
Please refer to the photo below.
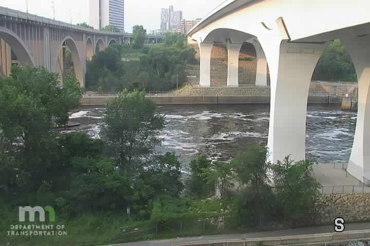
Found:
<path fill-rule="evenodd" d="M 345 231 L 355 231 L 355 230 L 370 230 L 370 222 L 353 223 L 353 224 L 345 225 Z M 179 242 L 197 242 L 197 241 L 209 241 L 209 240 L 221 240 L 221 239 L 279 237 L 279 236 L 292 236 L 292 235 L 318 234 L 318 233 L 331 233 L 331 232 L 334 232 L 334 226 L 307 227 L 307 228 L 299 228 L 299 229 L 289 229 L 289 230 L 271 231 L 271 232 L 255 232 L 255 233 L 246 233 L 246 234 L 186 237 L 186 238 L 176 238 L 176 239 L 166 239 L 166 240 L 156 240 L 156 241 L 110 244 L 109 246 L 171 246 L 172 243 L 175 243 L 175 242 L 179 243 Z"/>

